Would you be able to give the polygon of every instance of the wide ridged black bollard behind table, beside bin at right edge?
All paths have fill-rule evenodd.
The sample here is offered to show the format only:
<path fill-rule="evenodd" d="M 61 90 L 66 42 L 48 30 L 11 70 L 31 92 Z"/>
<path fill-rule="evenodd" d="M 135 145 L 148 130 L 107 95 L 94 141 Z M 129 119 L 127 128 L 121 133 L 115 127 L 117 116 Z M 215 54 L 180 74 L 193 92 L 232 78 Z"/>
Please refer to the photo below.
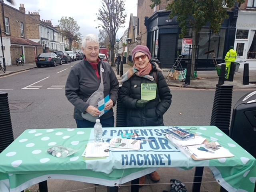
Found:
<path fill-rule="evenodd" d="M 229 135 L 233 86 L 216 85 L 210 125 Z"/>

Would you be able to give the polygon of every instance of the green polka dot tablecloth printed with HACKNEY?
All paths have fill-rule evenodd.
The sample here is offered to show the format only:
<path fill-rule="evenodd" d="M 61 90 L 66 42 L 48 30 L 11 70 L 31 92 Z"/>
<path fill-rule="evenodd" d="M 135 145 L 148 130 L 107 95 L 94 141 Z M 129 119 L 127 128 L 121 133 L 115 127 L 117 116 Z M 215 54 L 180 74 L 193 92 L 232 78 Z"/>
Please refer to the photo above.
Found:
<path fill-rule="evenodd" d="M 256 180 L 256 160 L 215 126 L 195 126 L 193 132 L 217 141 L 234 157 L 193 160 L 180 152 L 163 134 L 162 127 L 103 128 L 103 141 L 138 133 L 142 138 L 138 151 L 114 151 L 106 158 L 84 158 L 88 142 L 94 141 L 92 128 L 32 129 L 24 131 L 0 154 L 0 192 L 20 192 L 49 179 L 76 180 L 115 186 L 138 178 L 160 167 L 209 167 L 216 180 L 229 192 L 252 192 Z M 190 128 L 180 126 L 180 128 Z M 71 156 L 57 158 L 46 151 L 52 146 L 78 150 Z"/>

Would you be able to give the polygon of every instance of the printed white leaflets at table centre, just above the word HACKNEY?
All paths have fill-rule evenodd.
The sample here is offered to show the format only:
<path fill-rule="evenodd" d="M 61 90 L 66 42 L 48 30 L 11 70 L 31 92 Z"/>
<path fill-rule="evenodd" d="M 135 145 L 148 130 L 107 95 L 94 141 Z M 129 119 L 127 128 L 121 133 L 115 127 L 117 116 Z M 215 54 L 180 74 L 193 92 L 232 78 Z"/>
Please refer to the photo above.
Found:
<path fill-rule="evenodd" d="M 139 150 L 140 140 L 125 139 L 125 138 L 112 138 L 109 142 L 111 150 Z"/>

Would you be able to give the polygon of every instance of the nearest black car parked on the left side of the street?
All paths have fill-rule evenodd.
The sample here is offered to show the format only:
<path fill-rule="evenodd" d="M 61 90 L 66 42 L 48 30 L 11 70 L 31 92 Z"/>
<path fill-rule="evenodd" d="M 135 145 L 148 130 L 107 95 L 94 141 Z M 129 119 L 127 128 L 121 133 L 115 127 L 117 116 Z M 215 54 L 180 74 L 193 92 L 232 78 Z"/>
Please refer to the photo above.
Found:
<path fill-rule="evenodd" d="M 36 66 L 52 66 L 56 67 L 56 64 L 62 65 L 61 58 L 55 53 L 42 53 L 36 57 Z"/>

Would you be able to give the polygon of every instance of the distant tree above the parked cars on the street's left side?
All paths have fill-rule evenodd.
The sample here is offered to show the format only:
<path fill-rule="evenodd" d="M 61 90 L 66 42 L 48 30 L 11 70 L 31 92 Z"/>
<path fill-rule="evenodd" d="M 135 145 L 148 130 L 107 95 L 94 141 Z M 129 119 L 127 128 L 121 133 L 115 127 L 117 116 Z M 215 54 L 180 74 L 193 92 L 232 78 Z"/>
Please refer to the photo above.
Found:
<path fill-rule="evenodd" d="M 79 32 L 80 26 L 76 23 L 74 18 L 62 16 L 59 22 L 59 31 L 62 36 L 68 39 L 68 49 L 72 50 L 72 42 L 74 40 L 79 41 L 81 37 L 81 33 Z"/>

